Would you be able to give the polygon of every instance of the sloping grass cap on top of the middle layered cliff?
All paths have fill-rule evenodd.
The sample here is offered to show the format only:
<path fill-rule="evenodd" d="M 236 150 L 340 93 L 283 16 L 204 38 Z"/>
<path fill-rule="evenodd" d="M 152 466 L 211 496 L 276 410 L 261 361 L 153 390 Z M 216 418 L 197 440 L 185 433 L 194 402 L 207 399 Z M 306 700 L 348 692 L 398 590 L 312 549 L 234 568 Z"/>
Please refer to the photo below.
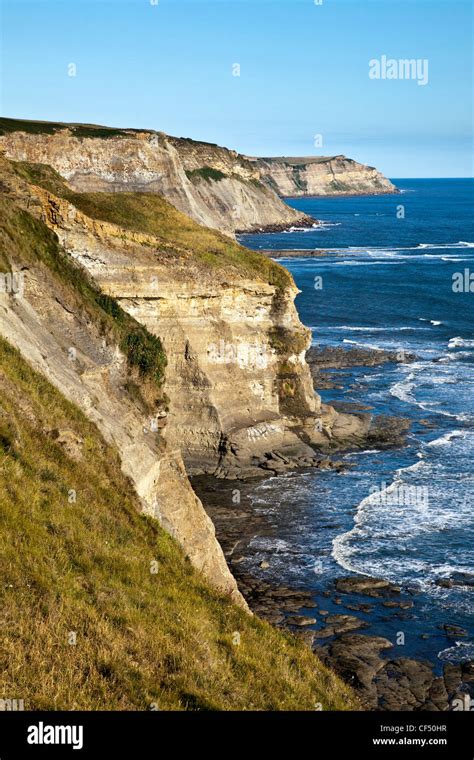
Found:
<path fill-rule="evenodd" d="M 67 199 L 87 216 L 153 235 L 164 251 L 187 255 L 207 271 L 216 269 L 225 274 L 230 269 L 279 290 L 293 282 L 284 267 L 226 235 L 202 227 L 155 193 L 76 193 L 49 166 L 24 162 L 12 165 L 23 179 Z"/>

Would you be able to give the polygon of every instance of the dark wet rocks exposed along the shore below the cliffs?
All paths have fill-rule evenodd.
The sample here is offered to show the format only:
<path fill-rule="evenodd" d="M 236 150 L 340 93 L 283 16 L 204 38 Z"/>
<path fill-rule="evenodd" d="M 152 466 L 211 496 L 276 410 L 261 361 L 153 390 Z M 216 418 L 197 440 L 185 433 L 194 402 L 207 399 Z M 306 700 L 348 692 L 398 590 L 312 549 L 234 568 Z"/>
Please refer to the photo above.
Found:
<path fill-rule="evenodd" d="M 339 348 L 312 348 L 307 359 L 316 387 L 321 387 L 321 373 L 324 375 L 330 370 L 400 361 L 400 357 L 390 352 Z M 404 361 L 414 359 L 414 356 L 403 357 Z M 403 443 L 407 420 L 385 416 L 374 420 L 370 445 Z M 312 466 L 338 470 L 345 465 L 315 456 Z M 269 474 L 278 474 L 278 468 Z M 466 701 L 474 697 L 473 661 L 459 665 L 444 663 L 442 673 L 437 674 L 428 661 L 399 656 L 403 651 L 399 642 L 370 632 L 371 619 L 375 616 L 383 620 L 390 615 L 391 619 L 399 620 L 402 627 L 416 608 L 415 588 L 401 588 L 383 578 L 349 575 L 334 579 L 328 589 L 310 592 L 257 578 L 246 572 L 242 563 L 251 552 L 252 539 L 262 533 L 271 536 L 271 526 L 263 514 L 252 509 L 248 492 L 253 482 L 217 481 L 213 477 L 199 476 L 192 480 L 192 485 L 215 525 L 231 572 L 250 609 L 272 625 L 303 638 L 315 656 L 353 686 L 364 709 L 468 709 Z M 236 493 L 238 503 L 235 503 Z M 269 567 L 265 561 L 260 566 L 262 570 Z M 447 579 L 445 586 L 449 588 L 461 582 L 472 585 L 471 581 L 453 579 L 451 584 Z M 466 633 L 449 622 L 442 627 L 453 643 Z M 428 638 L 428 634 L 422 634 L 421 638 Z"/>

